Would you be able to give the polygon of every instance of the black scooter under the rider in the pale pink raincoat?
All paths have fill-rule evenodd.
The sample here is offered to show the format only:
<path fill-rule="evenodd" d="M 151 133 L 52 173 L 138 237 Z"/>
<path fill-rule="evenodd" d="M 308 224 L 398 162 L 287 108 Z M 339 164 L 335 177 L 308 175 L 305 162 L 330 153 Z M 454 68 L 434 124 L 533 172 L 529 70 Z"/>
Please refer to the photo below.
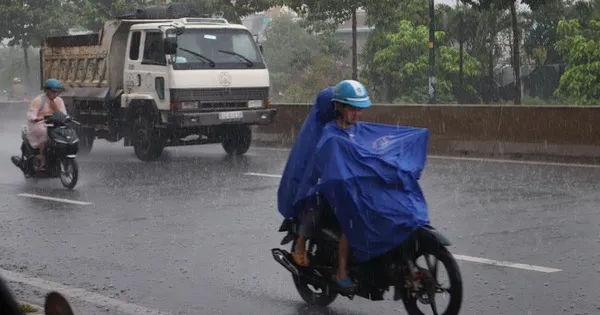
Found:
<path fill-rule="evenodd" d="M 48 126 L 48 145 L 46 146 L 46 170 L 40 170 L 40 150 L 34 149 L 27 140 L 27 127 L 21 131 L 21 156 L 12 156 L 11 161 L 18 167 L 25 178 L 60 177 L 62 185 L 73 189 L 79 179 L 79 166 L 75 160 L 79 150 L 79 137 L 70 123 L 79 122 L 62 112 L 44 116 Z"/>

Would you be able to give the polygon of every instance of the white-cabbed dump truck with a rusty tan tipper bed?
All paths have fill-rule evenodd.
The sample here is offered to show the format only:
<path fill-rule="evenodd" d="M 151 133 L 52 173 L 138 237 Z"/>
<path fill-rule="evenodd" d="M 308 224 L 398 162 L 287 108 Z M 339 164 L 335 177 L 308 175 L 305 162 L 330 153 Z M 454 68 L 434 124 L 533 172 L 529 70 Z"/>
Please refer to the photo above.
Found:
<path fill-rule="evenodd" d="M 109 20 L 98 33 L 46 38 L 40 68 L 42 83 L 56 78 L 65 88 L 81 153 L 96 139 L 123 139 L 142 161 L 211 143 L 241 155 L 251 126 L 277 112 L 262 46 L 223 18 Z"/>

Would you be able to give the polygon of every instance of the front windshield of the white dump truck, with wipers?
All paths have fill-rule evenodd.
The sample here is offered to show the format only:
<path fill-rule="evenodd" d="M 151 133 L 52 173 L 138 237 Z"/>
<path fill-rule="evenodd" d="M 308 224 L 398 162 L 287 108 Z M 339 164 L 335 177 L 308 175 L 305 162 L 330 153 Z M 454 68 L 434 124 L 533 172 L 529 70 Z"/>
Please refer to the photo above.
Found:
<path fill-rule="evenodd" d="M 188 28 L 177 37 L 177 46 L 175 70 L 266 67 L 254 38 L 243 29 Z"/>

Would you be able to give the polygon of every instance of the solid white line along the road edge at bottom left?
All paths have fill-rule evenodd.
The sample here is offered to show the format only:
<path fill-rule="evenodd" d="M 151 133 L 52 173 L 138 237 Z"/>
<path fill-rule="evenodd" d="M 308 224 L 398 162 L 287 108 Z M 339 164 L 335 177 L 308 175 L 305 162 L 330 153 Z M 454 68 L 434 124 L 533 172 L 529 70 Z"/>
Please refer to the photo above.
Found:
<path fill-rule="evenodd" d="M 66 286 L 57 282 L 31 277 L 23 273 L 0 269 L 0 275 L 2 278 L 10 281 L 28 284 L 46 291 L 57 291 L 58 293 L 72 299 L 82 300 L 102 307 L 109 307 L 127 314 L 169 315 L 169 313 L 164 313 L 159 310 L 123 302 L 83 289 Z"/>

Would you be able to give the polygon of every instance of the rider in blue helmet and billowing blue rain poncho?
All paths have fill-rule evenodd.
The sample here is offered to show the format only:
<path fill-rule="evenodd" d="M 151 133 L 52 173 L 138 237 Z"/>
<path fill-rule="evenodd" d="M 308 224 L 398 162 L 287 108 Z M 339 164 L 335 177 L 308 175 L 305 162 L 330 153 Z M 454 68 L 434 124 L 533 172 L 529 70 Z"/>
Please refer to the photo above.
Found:
<path fill-rule="evenodd" d="M 277 195 L 279 212 L 300 221 L 292 254 L 299 266 L 308 265 L 304 242 L 320 214 L 335 216 L 344 234 L 335 275 L 341 289 L 354 286 L 346 271 L 350 247 L 355 263 L 367 262 L 429 224 L 418 183 L 429 130 L 359 123 L 370 105 L 357 81 L 322 90 L 296 138 Z"/>

